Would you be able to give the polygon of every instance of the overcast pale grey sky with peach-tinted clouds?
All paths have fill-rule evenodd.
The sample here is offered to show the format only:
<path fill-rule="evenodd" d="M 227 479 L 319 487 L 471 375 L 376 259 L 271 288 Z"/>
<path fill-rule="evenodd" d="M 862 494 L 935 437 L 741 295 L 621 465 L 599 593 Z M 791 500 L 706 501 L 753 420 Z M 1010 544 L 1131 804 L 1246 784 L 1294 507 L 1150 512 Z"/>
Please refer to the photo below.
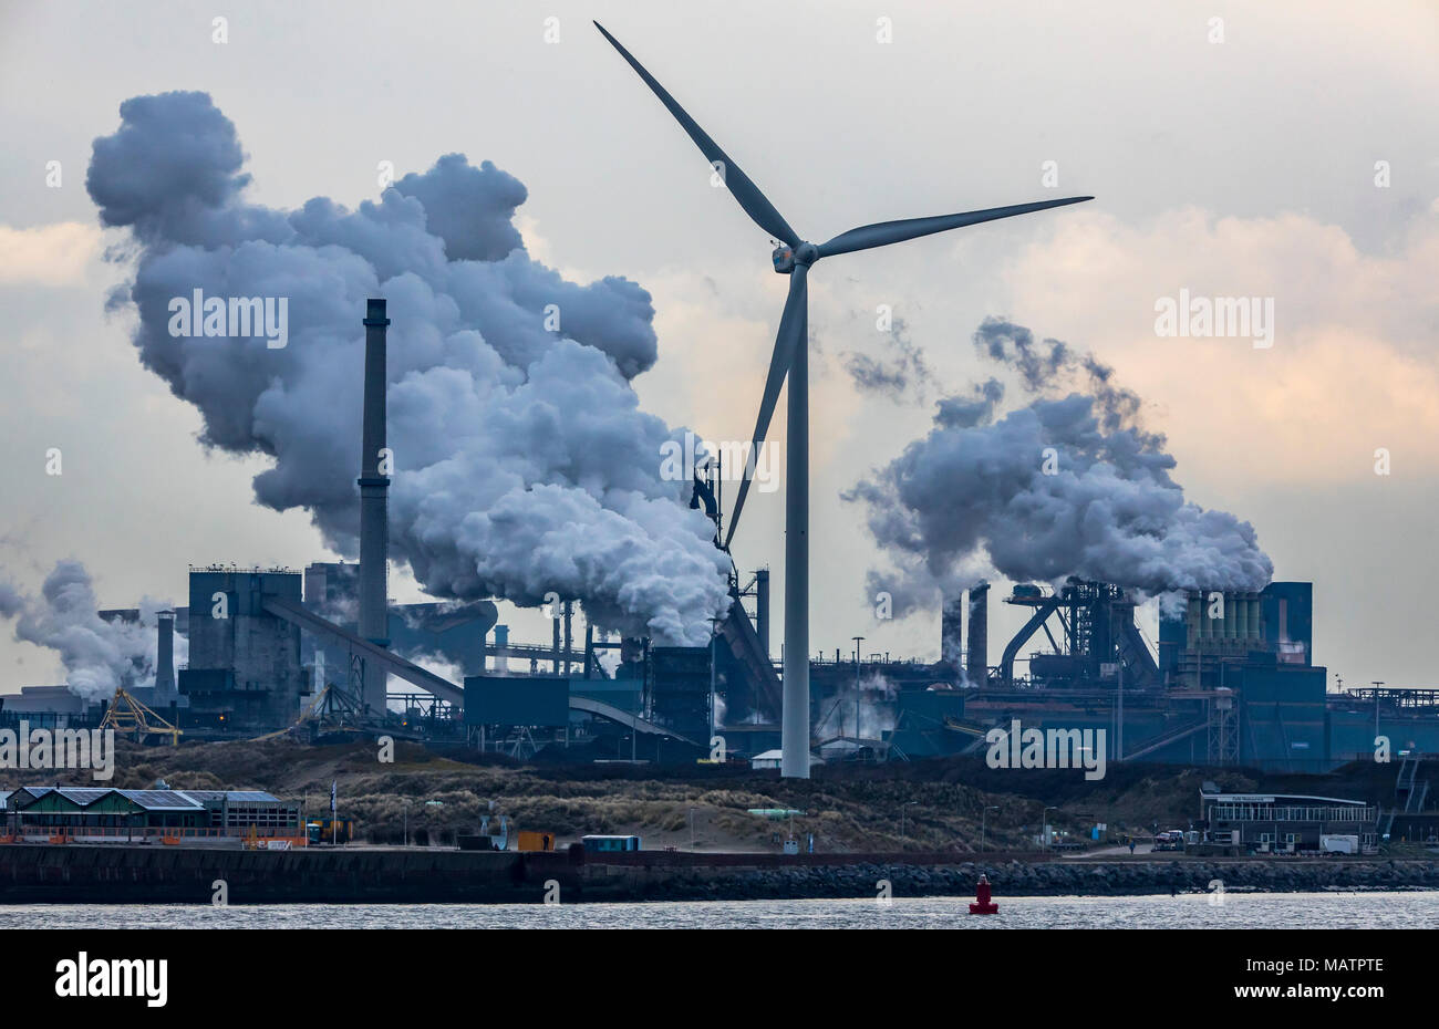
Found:
<path fill-rule="evenodd" d="M 327 557 L 302 511 L 252 502 L 263 461 L 196 443 L 199 414 L 137 360 L 132 311 L 105 314 L 128 272 L 104 253 L 124 236 L 99 229 L 85 170 L 138 94 L 209 92 L 249 155 L 249 196 L 273 207 L 376 199 L 381 161 L 494 161 L 530 190 L 532 256 L 652 294 L 642 406 L 748 438 L 787 282 L 590 17 L 807 239 L 1098 197 L 816 268 L 816 651 L 865 635 L 866 651 L 937 656 L 937 612 L 873 620 L 879 556 L 839 494 L 924 435 L 938 396 L 991 373 L 970 337 L 1002 315 L 1114 366 L 1189 499 L 1250 521 L 1276 579 L 1314 581 L 1331 684 L 1439 685 L 1439 14 L 1425 1 L 0 4 L 0 566 L 33 590 L 73 557 L 105 604 L 131 606 L 183 603 L 187 563 Z M 1154 304 L 1181 288 L 1272 296 L 1272 348 L 1157 337 Z M 922 394 L 862 394 L 846 373 L 849 354 L 894 355 L 878 305 L 924 350 Z M 753 497 L 735 543 L 741 567 L 774 568 L 776 597 L 781 515 L 783 492 Z M 417 596 L 403 579 L 393 591 Z M 1020 619 L 997 603 L 990 617 L 996 655 Z M 541 638 L 534 615 L 509 620 Z M 0 691 L 58 669 L 4 630 Z"/>

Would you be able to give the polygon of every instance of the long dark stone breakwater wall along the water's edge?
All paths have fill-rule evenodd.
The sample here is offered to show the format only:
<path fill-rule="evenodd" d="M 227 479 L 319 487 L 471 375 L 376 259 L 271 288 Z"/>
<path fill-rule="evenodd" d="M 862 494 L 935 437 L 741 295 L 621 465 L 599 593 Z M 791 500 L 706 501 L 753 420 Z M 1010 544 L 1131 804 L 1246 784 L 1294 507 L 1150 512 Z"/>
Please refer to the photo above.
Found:
<path fill-rule="evenodd" d="M 1053 861 L 957 855 L 626 855 L 154 846 L 0 848 L 3 904 L 538 904 L 967 897 L 980 874 L 997 897 L 1206 891 L 1439 889 L 1436 861 Z"/>

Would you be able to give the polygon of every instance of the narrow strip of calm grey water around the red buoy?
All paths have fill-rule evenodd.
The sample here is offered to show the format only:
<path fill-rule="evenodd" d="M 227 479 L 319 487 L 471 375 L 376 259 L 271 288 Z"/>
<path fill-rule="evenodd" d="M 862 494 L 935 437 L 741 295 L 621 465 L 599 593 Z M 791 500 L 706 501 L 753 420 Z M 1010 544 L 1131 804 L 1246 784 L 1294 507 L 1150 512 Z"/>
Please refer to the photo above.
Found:
<path fill-rule="evenodd" d="M 1435 928 L 1439 892 L 691 901 L 665 904 L 131 904 L 0 907 L 3 928 Z"/>

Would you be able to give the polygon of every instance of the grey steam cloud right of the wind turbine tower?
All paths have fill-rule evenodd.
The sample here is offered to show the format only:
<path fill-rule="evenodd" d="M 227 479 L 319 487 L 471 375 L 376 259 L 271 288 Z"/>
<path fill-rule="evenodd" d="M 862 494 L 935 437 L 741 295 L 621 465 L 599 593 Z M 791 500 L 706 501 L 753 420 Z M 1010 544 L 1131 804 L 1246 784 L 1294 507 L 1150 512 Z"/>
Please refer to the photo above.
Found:
<path fill-rule="evenodd" d="M 1140 399 L 1112 370 L 1058 340 L 987 318 L 981 354 L 1040 396 L 996 417 L 1004 389 L 989 380 L 938 404 L 935 427 L 845 494 L 868 508 L 896 563 L 872 571 L 895 613 L 970 584 L 984 564 L 1014 580 L 1068 576 L 1141 596 L 1186 589 L 1262 589 L 1274 564 L 1249 522 L 1184 499 L 1164 436 L 1135 423 Z"/>

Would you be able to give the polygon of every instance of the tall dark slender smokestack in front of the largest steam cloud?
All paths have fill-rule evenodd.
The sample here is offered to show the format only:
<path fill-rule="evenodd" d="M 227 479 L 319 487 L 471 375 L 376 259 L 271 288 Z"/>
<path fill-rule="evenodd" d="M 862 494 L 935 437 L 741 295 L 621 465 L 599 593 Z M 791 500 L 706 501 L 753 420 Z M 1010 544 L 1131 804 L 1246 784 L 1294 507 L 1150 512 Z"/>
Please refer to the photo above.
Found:
<path fill-rule="evenodd" d="M 390 520 L 387 492 L 390 478 L 381 473 L 384 462 L 384 335 L 390 319 L 384 301 L 366 301 L 364 317 L 364 429 L 360 453 L 360 635 L 376 646 L 390 646 L 390 609 L 387 564 L 390 557 Z M 384 712 L 386 672 L 376 662 L 366 662 L 364 702 L 377 714 Z"/>

